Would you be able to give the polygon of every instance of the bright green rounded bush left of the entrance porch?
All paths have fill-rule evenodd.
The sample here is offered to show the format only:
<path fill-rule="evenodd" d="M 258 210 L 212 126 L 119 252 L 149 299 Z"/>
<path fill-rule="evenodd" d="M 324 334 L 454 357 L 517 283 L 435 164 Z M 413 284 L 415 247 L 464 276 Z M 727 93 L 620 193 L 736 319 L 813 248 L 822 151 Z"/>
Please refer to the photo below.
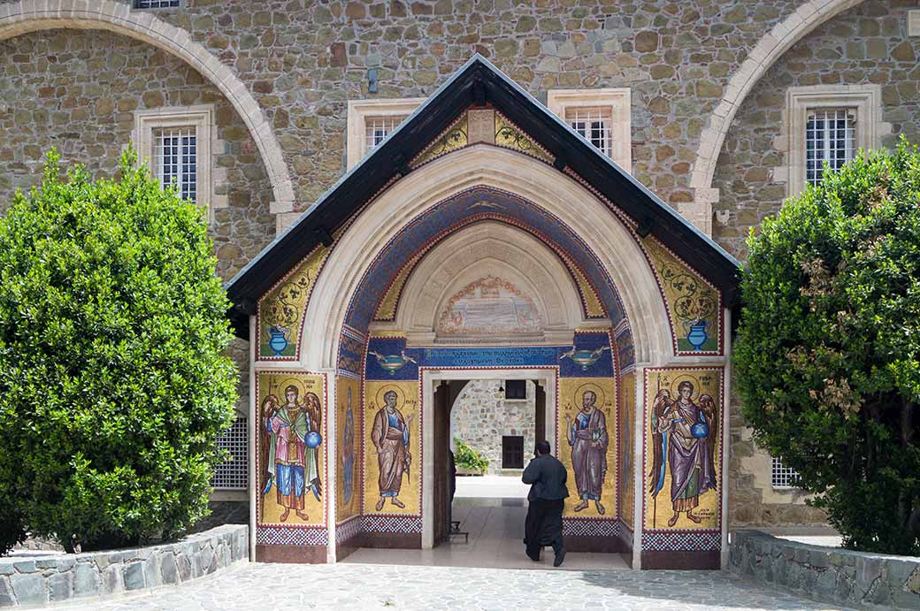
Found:
<path fill-rule="evenodd" d="M 0 549 L 180 535 L 207 513 L 236 368 L 201 208 L 132 152 L 121 179 L 59 179 L 0 219 Z M 8 523 L 7 523 L 8 521 Z"/>

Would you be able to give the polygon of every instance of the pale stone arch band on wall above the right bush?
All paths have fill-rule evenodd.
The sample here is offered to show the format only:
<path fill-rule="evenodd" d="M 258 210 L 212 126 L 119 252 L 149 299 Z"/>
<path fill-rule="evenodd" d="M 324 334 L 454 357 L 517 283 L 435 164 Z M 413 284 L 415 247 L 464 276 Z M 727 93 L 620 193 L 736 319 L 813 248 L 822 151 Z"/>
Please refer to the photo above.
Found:
<path fill-rule="evenodd" d="M 766 71 L 792 45 L 825 21 L 863 0 L 810 0 L 776 23 L 753 47 L 741 67 L 731 76 L 725 94 L 709 115 L 709 123 L 699 137 L 690 187 L 694 202 L 682 204 L 680 212 L 707 235 L 712 235 L 712 204 L 719 201 L 719 190 L 712 187 L 716 164 L 725 136 L 744 98 Z"/>

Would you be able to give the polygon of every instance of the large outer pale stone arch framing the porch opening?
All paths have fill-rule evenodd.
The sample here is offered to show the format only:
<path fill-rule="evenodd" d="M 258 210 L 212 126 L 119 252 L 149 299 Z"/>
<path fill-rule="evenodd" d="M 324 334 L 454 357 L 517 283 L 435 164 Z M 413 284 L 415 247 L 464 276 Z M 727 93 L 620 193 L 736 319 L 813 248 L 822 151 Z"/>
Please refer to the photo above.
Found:
<path fill-rule="evenodd" d="M 302 366 L 313 371 L 335 367 L 351 296 L 389 237 L 432 205 L 477 186 L 515 193 L 577 233 L 615 283 L 632 328 L 636 362 L 673 361 L 670 323 L 654 272 L 627 227 L 589 190 L 558 170 L 508 149 L 474 144 L 398 180 L 339 238 L 307 305 Z"/>

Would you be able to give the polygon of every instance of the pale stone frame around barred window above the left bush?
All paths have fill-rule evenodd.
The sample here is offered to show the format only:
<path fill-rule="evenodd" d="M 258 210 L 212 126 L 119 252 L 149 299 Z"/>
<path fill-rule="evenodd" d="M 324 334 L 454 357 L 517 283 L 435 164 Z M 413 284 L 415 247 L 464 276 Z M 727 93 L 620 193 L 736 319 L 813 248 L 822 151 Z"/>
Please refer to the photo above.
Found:
<path fill-rule="evenodd" d="M 195 167 L 195 201 L 210 208 L 223 207 L 214 202 L 212 150 L 214 134 L 213 104 L 138 110 L 134 113 L 133 142 L 138 157 L 154 169 L 154 132 L 161 129 L 195 129 L 197 164 Z"/>

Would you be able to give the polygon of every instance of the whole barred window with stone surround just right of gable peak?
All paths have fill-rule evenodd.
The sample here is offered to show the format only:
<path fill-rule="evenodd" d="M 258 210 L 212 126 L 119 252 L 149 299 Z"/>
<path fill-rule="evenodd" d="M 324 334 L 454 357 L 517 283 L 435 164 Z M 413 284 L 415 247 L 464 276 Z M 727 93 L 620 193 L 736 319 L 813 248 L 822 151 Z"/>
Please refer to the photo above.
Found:
<path fill-rule="evenodd" d="M 619 167 L 632 171 L 632 110 L 627 87 L 553 89 L 546 96 L 546 106 Z"/>

